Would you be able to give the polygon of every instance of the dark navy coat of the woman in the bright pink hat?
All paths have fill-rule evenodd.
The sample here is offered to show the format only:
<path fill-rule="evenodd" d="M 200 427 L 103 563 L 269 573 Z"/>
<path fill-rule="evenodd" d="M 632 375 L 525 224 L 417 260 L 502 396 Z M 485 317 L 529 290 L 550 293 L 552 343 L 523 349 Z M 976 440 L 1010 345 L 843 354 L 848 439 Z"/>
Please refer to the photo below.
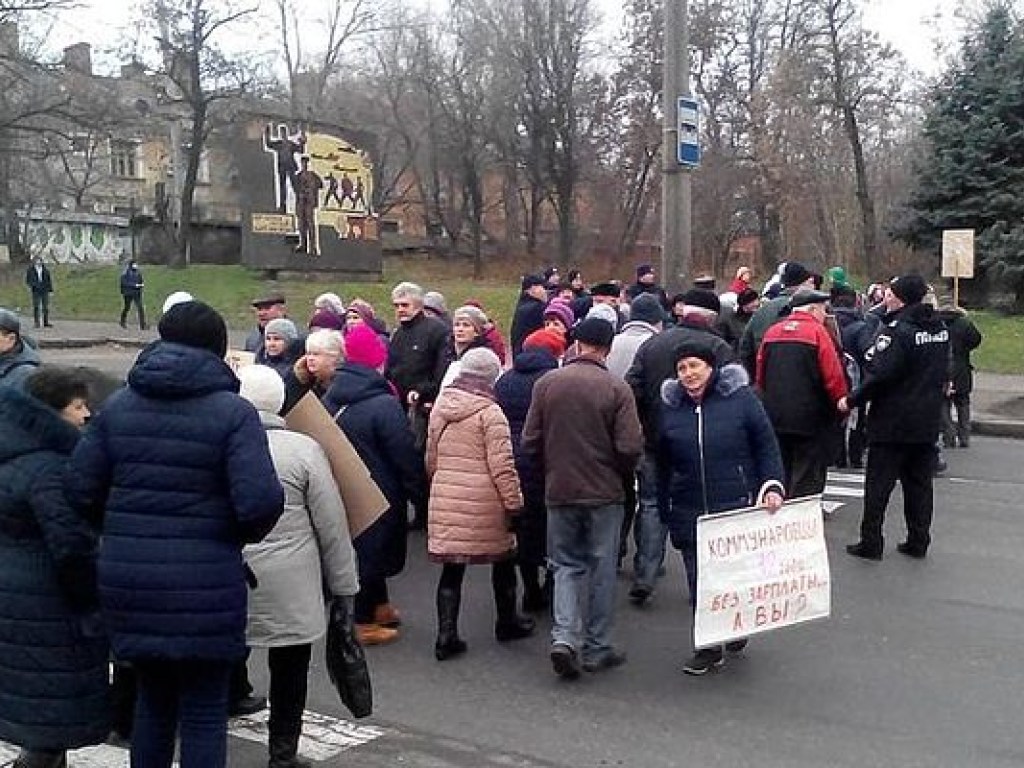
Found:
<path fill-rule="evenodd" d="M 387 511 L 353 540 L 359 579 L 389 579 L 406 566 L 409 503 L 426 501 L 427 477 L 413 432 L 387 380 L 366 366 L 344 364 L 324 406 L 362 459 L 388 501 Z"/>

